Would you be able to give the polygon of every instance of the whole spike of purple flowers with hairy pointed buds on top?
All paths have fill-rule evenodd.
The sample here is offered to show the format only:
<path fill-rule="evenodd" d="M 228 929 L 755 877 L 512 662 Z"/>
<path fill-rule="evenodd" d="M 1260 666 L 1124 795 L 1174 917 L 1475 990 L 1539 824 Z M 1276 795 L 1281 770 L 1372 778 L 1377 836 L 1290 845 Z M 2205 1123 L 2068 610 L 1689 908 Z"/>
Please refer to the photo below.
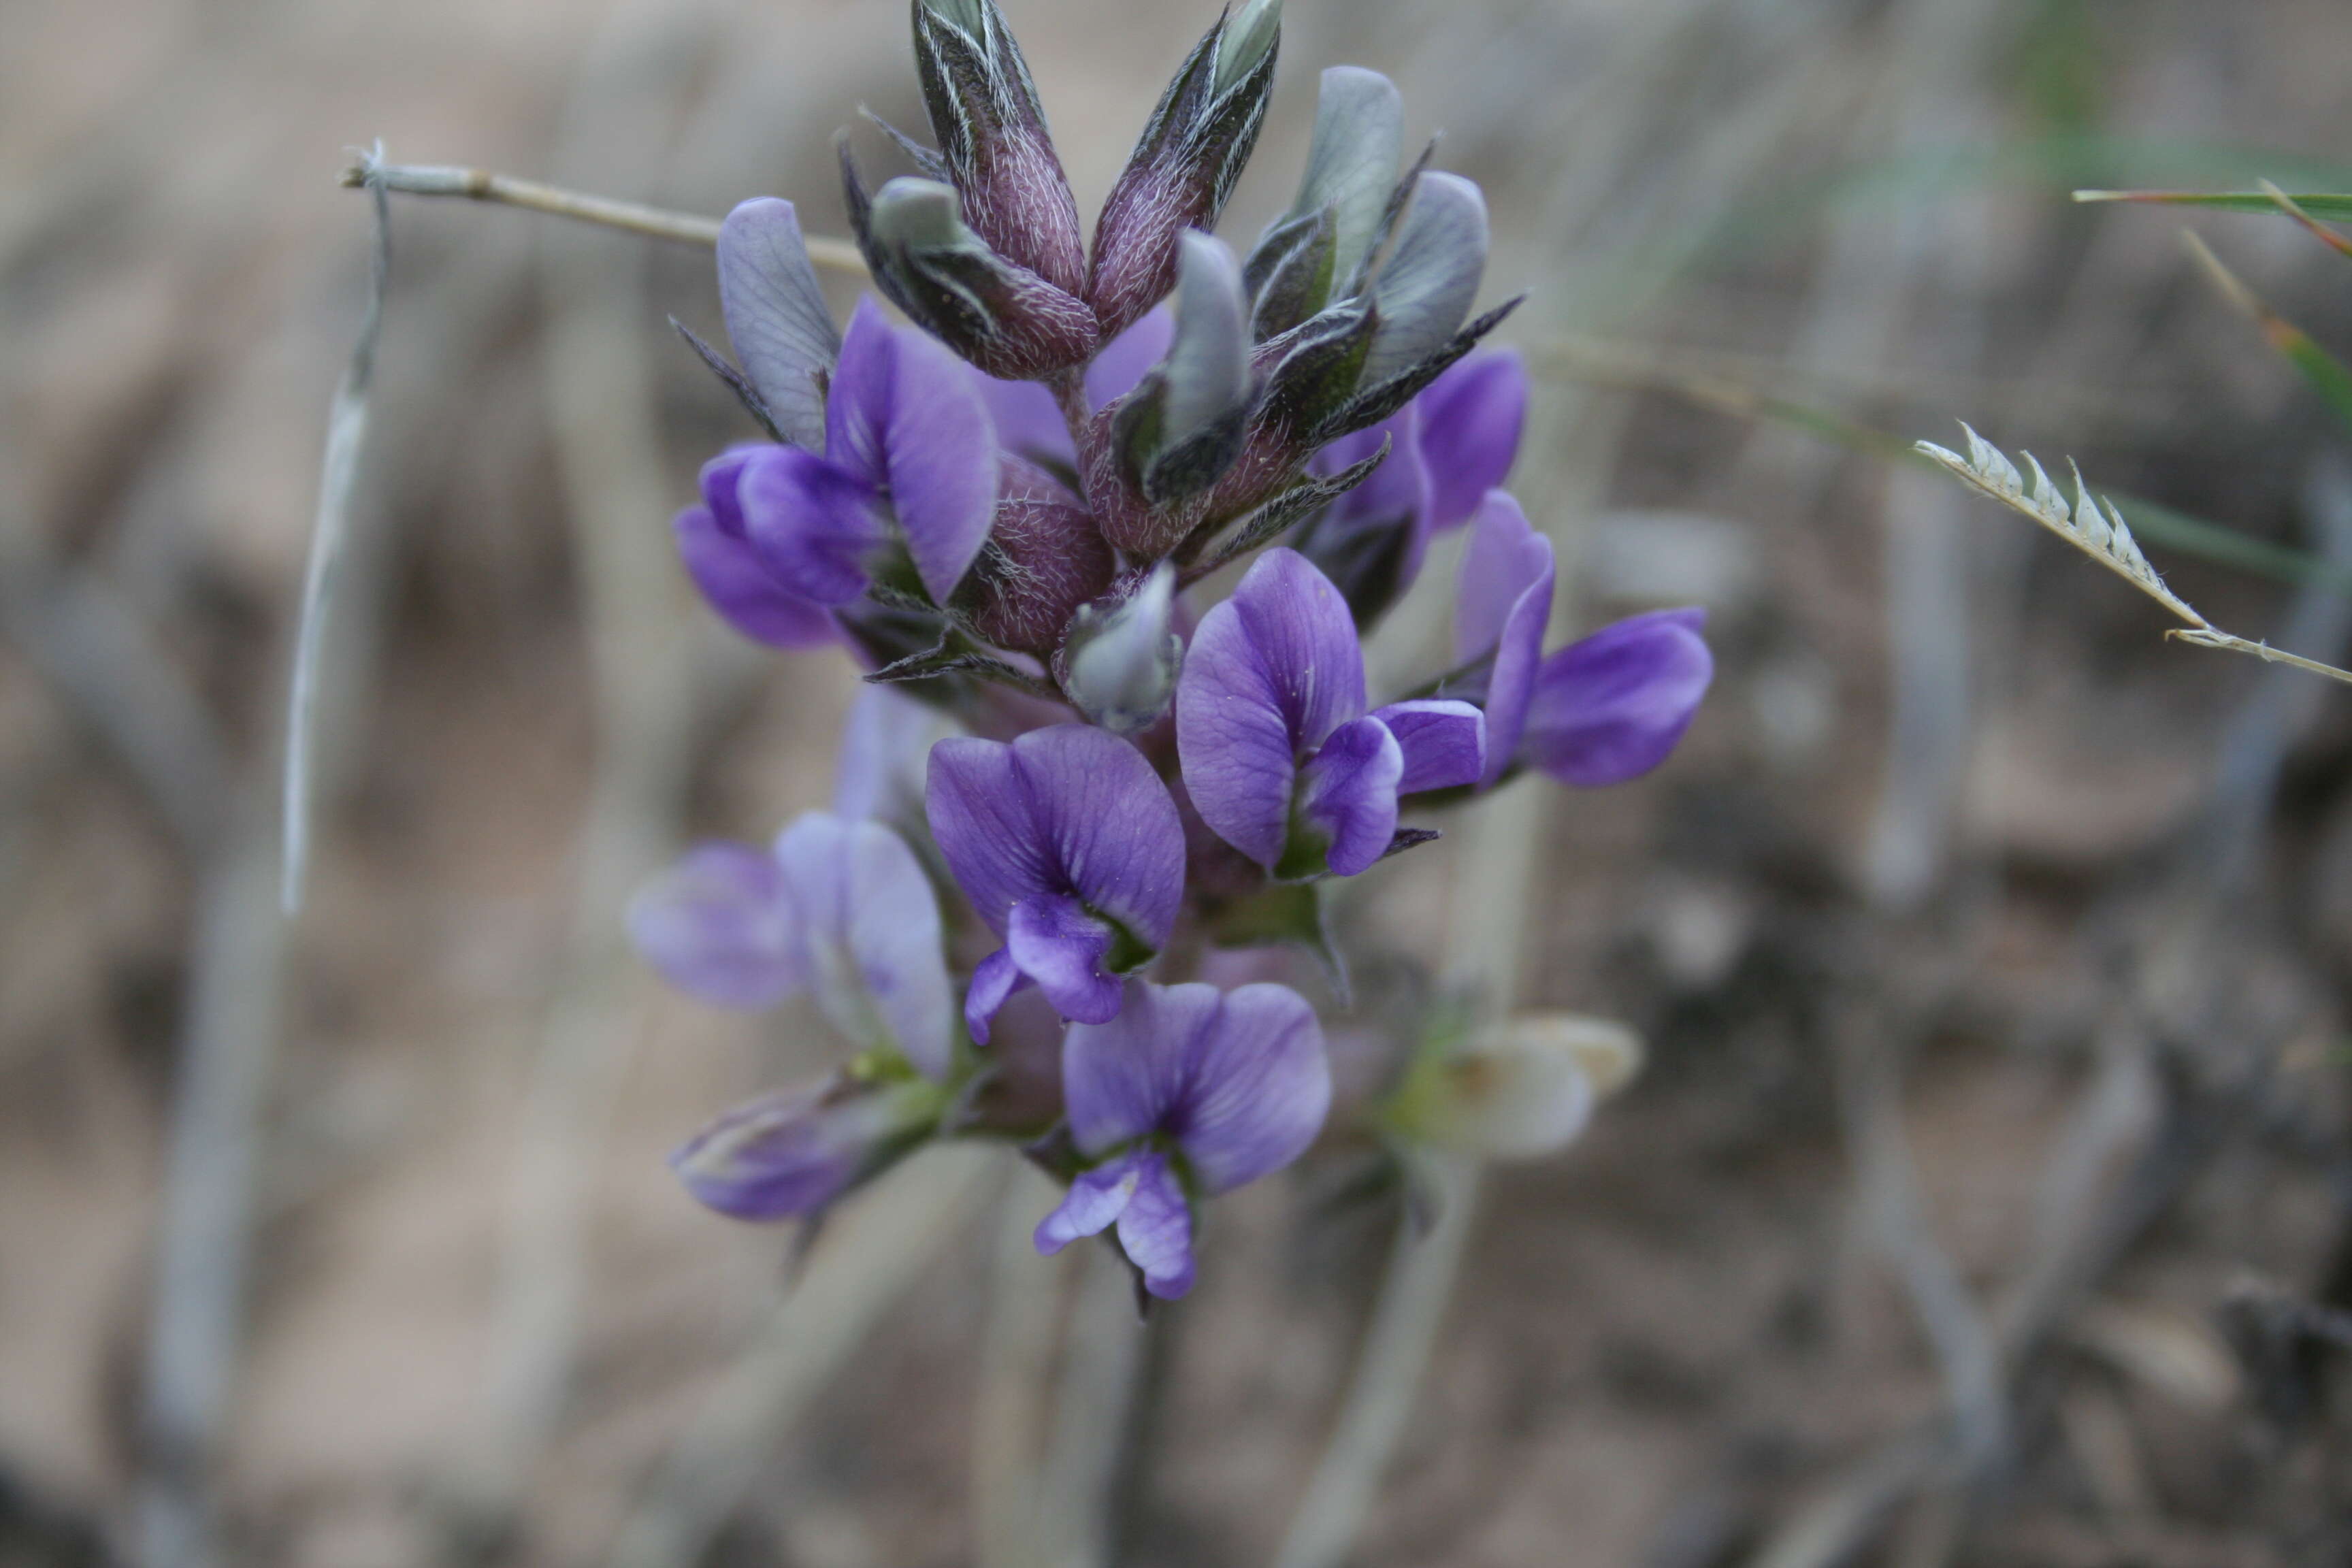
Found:
<path fill-rule="evenodd" d="M 1183 1295 L 1197 1206 L 1303 1154 L 1334 1095 L 1315 1009 L 1190 980 L 1200 954 L 1279 936 L 1237 910 L 1312 912 L 1435 837 L 1399 827 L 1416 802 L 1653 769 L 1712 661 L 1696 609 L 1545 654 L 1552 548 L 1498 489 L 1526 374 L 1472 353 L 1510 310 L 1470 315 L 1486 207 L 1404 162 L 1385 78 L 1324 73 L 1298 200 L 1237 256 L 1209 230 L 1279 0 L 1228 12 L 1089 247 L 995 0 L 913 9 L 936 150 L 891 132 L 915 174 L 880 190 L 842 160 L 910 324 L 868 299 L 837 334 L 790 202 L 736 207 L 734 362 L 696 348 L 769 440 L 713 458 L 675 524 L 736 630 L 844 642 L 880 691 L 835 811 L 774 849 L 701 846 L 633 907 L 675 985 L 807 992 L 856 1056 L 677 1168 L 713 1208 L 786 1218 L 931 1135 L 1018 1138 L 1070 1187 L 1040 1251 L 1108 1229 L 1143 1288 Z M 1463 527 L 1454 668 L 1378 703 L 1362 635 Z M 1040 1056 L 1014 1025 L 1037 1009 L 1007 1006 L 1030 987 L 1058 1018 L 1042 1107 L 997 1093 Z"/>

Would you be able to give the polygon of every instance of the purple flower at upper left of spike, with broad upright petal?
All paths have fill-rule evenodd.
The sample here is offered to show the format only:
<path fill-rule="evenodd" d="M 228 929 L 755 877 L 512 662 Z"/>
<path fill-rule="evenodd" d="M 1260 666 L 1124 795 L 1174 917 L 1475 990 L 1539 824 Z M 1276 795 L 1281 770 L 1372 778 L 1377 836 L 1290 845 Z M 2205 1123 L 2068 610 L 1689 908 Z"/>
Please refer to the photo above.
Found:
<path fill-rule="evenodd" d="M 823 456 L 736 447 L 703 470 L 703 494 L 797 599 L 856 599 L 903 543 L 943 604 L 995 515 L 995 425 L 946 348 L 863 301 L 826 400 Z"/>

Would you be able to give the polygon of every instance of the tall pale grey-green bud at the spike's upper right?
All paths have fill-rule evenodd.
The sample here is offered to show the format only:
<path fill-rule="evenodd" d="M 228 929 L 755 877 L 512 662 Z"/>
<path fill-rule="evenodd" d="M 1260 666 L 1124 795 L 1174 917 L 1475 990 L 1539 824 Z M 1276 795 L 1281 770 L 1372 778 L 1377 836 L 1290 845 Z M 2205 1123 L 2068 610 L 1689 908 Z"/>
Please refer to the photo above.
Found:
<path fill-rule="evenodd" d="M 1289 331 L 1362 282 L 1404 150 L 1404 101 L 1378 71 L 1331 66 L 1315 101 L 1298 200 L 1249 254 L 1258 339 Z"/>

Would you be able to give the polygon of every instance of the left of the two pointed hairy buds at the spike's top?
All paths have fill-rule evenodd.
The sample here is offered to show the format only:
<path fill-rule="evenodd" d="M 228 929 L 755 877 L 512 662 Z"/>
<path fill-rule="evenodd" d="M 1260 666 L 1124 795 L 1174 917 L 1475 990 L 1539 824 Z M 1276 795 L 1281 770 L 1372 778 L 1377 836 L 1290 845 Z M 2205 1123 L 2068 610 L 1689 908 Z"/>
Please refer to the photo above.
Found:
<path fill-rule="evenodd" d="M 1000 256 L 1077 294 L 1087 249 L 1021 45 L 995 0 L 915 0 L 915 66 L 964 219 Z"/>

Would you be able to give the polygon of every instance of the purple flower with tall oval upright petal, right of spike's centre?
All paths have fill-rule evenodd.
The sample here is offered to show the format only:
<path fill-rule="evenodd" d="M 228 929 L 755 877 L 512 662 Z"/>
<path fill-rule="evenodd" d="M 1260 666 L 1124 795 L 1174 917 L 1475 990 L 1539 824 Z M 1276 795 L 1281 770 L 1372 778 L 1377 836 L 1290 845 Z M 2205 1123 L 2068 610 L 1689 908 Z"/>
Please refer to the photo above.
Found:
<path fill-rule="evenodd" d="M 1345 599 L 1296 550 L 1268 550 L 1192 635 L 1176 750 L 1221 839 L 1277 877 L 1355 877 L 1388 853 L 1399 795 L 1477 783 L 1486 724 L 1458 701 L 1367 715 Z"/>

